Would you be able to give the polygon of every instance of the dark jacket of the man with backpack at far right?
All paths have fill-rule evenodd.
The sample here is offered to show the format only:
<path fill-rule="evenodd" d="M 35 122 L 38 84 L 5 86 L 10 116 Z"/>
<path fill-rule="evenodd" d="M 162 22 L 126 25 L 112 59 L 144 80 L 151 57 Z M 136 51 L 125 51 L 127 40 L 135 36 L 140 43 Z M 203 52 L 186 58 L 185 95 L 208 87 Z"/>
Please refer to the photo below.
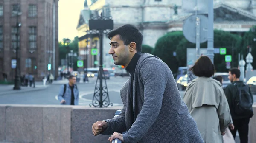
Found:
<path fill-rule="evenodd" d="M 231 116 L 232 116 L 232 119 L 233 120 L 236 120 L 236 119 L 241 119 L 241 118 L 249 118 L 250 115 L 237 115 L 234 111 L 234 108 L 235 108 L 235 99 L 236 99 L 236 95 L 238 94 L 237 92 L 237 88 L 234 84 L 237 84 L 237 86 L 242 86 L 243 85 L 243 82 L 242 81 L 234 81 L 232 84 L 229 84 L 224 92 L 225 92 L 225 95 L 226 95 L 226 98 L 227 98 L 227 102 L 229 104 L 229 107 L 230 107 L 230 113 L 231 113 Z M 248 91 L 251 95 L 251 98 L 253 99 L 253 95 L 250 91 L 250 87 L 248 87 Z"/>

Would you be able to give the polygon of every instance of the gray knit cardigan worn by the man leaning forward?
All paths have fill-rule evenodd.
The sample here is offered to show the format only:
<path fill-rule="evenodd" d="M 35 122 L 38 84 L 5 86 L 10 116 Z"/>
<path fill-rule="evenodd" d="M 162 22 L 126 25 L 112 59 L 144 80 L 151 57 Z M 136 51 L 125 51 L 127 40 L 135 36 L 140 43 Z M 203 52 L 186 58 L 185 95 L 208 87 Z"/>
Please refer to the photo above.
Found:
<path fill-rule="evenodd" d="M 148 53 L 140 56 L 133 82 L 133 100 L 138 103 L 139 115 L 133 124 L 129 118 L 129 106 L 134 106 L 129 100 L 130 80 L 131 77 L 120 91 L 122 112 L 104 120 L 108 127 L 103 135 L 127 130 L 124 143 L 204 143 L 171 70 L 162 60 Z"/>

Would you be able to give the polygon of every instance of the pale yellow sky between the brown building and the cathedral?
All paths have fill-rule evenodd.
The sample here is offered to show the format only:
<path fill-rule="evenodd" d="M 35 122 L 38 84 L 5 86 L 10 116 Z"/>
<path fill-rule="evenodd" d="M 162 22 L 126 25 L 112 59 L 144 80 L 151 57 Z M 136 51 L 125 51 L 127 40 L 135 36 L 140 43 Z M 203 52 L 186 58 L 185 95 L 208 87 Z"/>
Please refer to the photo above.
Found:
<path fill-rule="evenodd" d="M 76 26 L 82 9 L 84 9 L 84 0 L 59 0 L 58 41 L 63 38 L 73 40 L 77 36 Z"/>

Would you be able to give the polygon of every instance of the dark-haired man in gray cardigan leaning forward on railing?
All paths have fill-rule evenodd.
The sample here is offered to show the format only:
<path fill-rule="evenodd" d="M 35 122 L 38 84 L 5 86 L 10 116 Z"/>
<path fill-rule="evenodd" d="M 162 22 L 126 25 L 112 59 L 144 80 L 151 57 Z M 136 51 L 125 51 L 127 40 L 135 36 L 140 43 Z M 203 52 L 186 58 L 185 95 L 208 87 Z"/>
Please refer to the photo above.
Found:
<path fill-rule="evenodd" d="M 94 123 L 93 135 L 113 134 L 110 142 L 118 138 L 123 143 L 204 143 L 170 68 L 157 56 L 141 53 L 139 29 L 124 25 L 108 38 L 114 64 L 125 66 L 131 75 L 120 91 L 121 113 Z"/>

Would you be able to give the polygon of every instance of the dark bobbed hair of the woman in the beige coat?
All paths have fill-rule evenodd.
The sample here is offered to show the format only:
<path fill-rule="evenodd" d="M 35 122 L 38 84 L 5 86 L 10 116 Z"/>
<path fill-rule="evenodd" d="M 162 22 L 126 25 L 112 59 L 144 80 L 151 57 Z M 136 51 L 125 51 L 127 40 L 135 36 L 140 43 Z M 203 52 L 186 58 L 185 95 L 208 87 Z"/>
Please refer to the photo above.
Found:
<path fill-rule="evenodd" d="M 211 59 L 208 56 L 200 56 L 200 58 L 195 62 L 191 70 L 195 76 L 198 77 L 211 77 L 215 73 L 214 64 L 212 64 Z"/>

